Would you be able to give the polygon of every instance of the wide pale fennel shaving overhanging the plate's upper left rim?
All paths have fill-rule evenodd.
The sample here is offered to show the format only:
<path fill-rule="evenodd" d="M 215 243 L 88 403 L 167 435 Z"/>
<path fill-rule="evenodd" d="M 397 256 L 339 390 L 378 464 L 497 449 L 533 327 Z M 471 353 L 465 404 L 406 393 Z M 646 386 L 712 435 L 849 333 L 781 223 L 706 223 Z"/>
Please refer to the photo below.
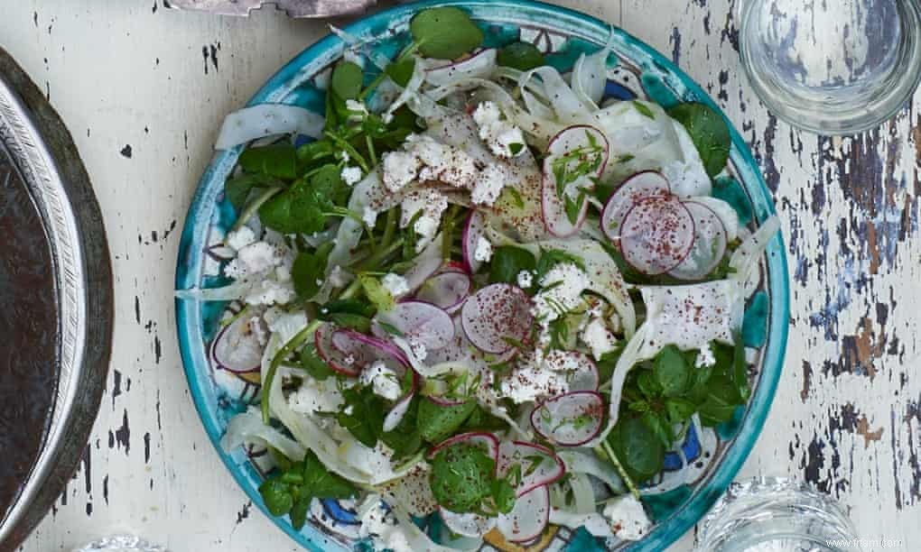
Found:
<path fill-rule="evenodd" d="M 325 120 L 308 109 L 284 104 L 262 104 L 227 115 L 217 135 L 215 149 L 225 150 L 258 138 L 281 134 L 305 134 L 319 138 Z"/>

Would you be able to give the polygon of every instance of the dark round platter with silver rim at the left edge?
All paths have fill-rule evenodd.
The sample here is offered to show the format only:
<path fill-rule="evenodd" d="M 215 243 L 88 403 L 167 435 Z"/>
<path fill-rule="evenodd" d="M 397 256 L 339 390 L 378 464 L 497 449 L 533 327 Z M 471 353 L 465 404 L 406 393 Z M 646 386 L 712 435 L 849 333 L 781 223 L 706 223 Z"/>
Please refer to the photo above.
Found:
<path fill-rule="evenodd" d="M 17 190 L 13 190 L 17 187 Z M 15 200 L 10 194 L 17 193 Z M 108 374 L 111 351 L 112 285 L 109 250 L 99 205 L 93 195 L 87 171 L 80 161 L 71 135 L 27 75 L 0 49 L 0 207 L 15 211 L 28 201 L 30 213 L 38 213 L 44 232 L 17 236 L 13 228 L 2 237 L 0 247 L 10 249 L 20 243 L 37 243 L 35 250 L 47 251 L 41 262 L 45 271 L 32 276 L 47 276 L 51 270 L 52 288 L 40 301 L 46 301 L 52 317 L 51 328 L 42 328 L 52 339 L 52 365 L 48 356 L 37 357 L 43 349 L 29 347 L 29 335 L 20 343 L 13 358 L 0 360 L 8 374 L 18 382 L 11 392 L 34 391 L 29 379 L 32 369 L 52 374 L 48 383 L 48 405 L 40 405 L 42 426 L 17 428 L 19 419 L 34 420 L 35 412 L 0 408 L 3 435 L 10 431 L 33 431 L 38 435 L 32 462 L 21 466 L 22 479 L 17 491 L 0 504 L 0 550 L 12 550 L 29 535 L 64 489 L 73 475 L 87 443 L 89 431 L 99 411 L 99 399 Z M 2 201 L 6 198 L 6 201 Z M 6 216 L 6 211 L 0 213 Z M 34 215 L 32 215 L 34 216 Z M 43 242 L 43 243 L 42 243 Z M 17 265 L 29 265 L 29 249 L 19 247 L 15 255 L 0 258 L 0 298 L 7 310 L 6 324 L 29 327 L 29 302 L 17 283 L 22 282 Z M 10 260 L 12 259 L 12 260 Z M 22 262 L 17 262 L 21 260 Z M 6 275 L 6 276 L 5 276 Z M 17 292 L 19 296 L 12 296 Z M 21 305 L 20 305 L 21 304 Z M 23 306 L 25 305 L 25 306 Z M 14 316 L 15 315 L 15 316 Z M 55 328 L 56 322 L 56 328 Z M 26 330 L 22 330 L 25 332 Z M 20 333 L 22 333 L 20 332 Z M 49 337 L 51 336 L 51 337 Z M 24 345 L 24 346 L 23 346 Z M 44 351 L 49 354 L 48 351 Z M 6 362 L 6 363 L 5 363 Z M 28 369 L 28 370 L 27 370 Z M 19 379 L 17 379 L 19 378 Z M 21 381 L 20 381 L 21 380 Z M 42 382 L 44 384 L 45 382 Z M 7 384 L 9 385 L 9 384 Z M 25 390 L 17 389 L 16 386 Z M 23 401 L 25 402 L 25 401 Z M 29 404 L 31 408 L 31 404 Z M 39 431 L 34 433 L 34 431 Z M 3 446 L 16 444 L 6 439 Z M 10 448 L 8 451 L 16 450 Z M 18 476 L 17 476 L 18 477 Z"/>

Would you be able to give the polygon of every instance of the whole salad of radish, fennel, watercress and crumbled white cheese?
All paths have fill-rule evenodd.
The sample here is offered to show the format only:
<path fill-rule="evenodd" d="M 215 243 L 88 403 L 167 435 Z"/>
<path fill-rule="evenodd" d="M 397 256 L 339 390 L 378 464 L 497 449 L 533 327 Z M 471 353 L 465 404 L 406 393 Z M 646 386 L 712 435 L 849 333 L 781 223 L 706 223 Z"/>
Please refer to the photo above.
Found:
<path fill-rule="evenodd" d="M 641 538 L 639 499 L 689 477 L 665 455 L 751 392 L 741 316 L 778 224 L 713 196 L 726 123 L 602 100 L 610 47 L 561 74 L 454 7 L 392 60 L 334 30 L 325 116 L 242 109 L 217 141 L 245 145 L 208 250 L 228 282 L 179 294 L 227 302 L 210 356 L 256 390 L 223 446 L 265 452 L 269 512 L 343 500 L 379 549 Z"/>

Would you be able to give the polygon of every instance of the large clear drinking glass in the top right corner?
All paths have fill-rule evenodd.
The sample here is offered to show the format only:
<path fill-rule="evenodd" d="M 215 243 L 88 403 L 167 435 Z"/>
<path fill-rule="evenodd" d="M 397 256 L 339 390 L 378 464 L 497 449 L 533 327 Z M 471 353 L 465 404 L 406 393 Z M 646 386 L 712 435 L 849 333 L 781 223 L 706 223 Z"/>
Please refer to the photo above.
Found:
<path fill-rule="evenodd" d="M 849 134 L 890 119 L 921 79 L 921 0 L 737 0 L 742 66 L 781 119 Z"/>

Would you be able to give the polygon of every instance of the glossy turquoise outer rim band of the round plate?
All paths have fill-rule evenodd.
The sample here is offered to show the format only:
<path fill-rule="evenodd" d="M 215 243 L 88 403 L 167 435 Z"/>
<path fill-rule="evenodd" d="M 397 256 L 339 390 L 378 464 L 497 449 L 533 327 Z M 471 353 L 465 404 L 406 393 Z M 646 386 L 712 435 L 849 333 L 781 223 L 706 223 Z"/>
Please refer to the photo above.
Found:
<path fill-rule="evenodd" d="M 608 39 L 611 32 L 611 26 L 596 17 L 565 7 L 530 0 L 424 0 L 412 5 L 395 6 L 364 17 L 344 27 L 344 30 L 359 38 L 370 38 L 377 36 L 375 33 L 378 32 L 378 29 L 400 28 L 416 12 L 431 6 L 460 6 L 472 10 L 476 19 L 495 23 L 520 24 L 522 19 L 526 18 L 542 23 L 542 26 L 547 29 L 599 45 Z M 625 53 L 626 59 L 631 63 L 656 67 L 664 74 L 662 76 L 670 88 L 682 91 L 683 101 L 704 102 L 722 114 L 722 110 L 704 89 L 669 59 L 623 29 L 615 28 L 614 32 L 619 39 L 623 40 L 623 44 L 619 45 L 619 54 Z M 318 40 L 282 67 L 250 99 L 247 105 L 283 103 L 289 94 L 301 84 L 298 76 L 314 75 L 322 67 L 338 59 L 343 51 L 344 42 L 336 36 L 328 35 Z M 752 157 L 748 145 L 731 123 L 729 128 L 732 138 L 730 160 L 752 201 L 755 217 L 759 222 L 764 221 L 775 213 L 771 192 L 764 184 L 761 170 Z M 208 230 L 213 222 L 214 206 L 223 190 L 224 179 L 235 166 L 241 149 L 238 147 L 216 153 L 204 171 L 182 230 L 176 268 L 177 289 L 190 288 L 200 283 L 202 251 Z M 713 473 L 698 489 L 694 490 L 691 498 L 669 518 L 659 523 L 643 540 L 627 546 L 625 550 L 630 552 L 662 550 L 694 526 L 694 523 L 703 517 L 717 498 L 729 487 L 729 483 L 739 472 L 764 426 L 775 396 L 787 349 L 789 281 L 786 251 L 779 234 L 768 245 L 766 258 L 766 280 L 770 289 L 769 332 L 764 346 L 764 361 L 759 383 L 740 422 L 739 431 L 728 450 L 720 458 Z M 269 514 L 259 496 L 259 475 L 248 463 L 239 464 L 221 449 L 220 438 L 224 432 L 226 420 L 221 420 L 213 409 L 217 397 L 215 389 L 209 385 L 208 380 L 208 365 L 202 344 L 204 328 L 201 305 L 198 301 L 177 300 L 177 327 L 182 362 L 195 408 L 198 410 L 209 439 L 216 447 L 217 454 L 250 499 L 297 543 L 310 550 L 324 550 L 328 549 L 327 546 L 338 546 L 316 527 L 308 525 L 302 532 L 297 532 L 285 519 Z"/>

